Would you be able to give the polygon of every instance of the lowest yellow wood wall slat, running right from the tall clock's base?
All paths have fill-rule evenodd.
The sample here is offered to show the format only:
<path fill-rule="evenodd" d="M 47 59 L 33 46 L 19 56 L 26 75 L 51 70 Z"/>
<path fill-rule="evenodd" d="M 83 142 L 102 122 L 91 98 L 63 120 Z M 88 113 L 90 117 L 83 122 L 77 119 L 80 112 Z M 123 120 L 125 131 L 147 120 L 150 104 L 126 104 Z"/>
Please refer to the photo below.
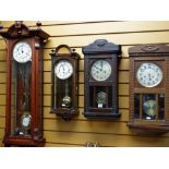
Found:
<path fill-rule="evenodd" d="M 45 131 L 47 142 L 64 144 L 84 144 L 89 142 L 99 143 L 100 146 L 168 146 L 169 137 L 145 137 L 120 134 L 97 134 L 97 133 L 76 133 L 76 132 L 56 132 Z"/>

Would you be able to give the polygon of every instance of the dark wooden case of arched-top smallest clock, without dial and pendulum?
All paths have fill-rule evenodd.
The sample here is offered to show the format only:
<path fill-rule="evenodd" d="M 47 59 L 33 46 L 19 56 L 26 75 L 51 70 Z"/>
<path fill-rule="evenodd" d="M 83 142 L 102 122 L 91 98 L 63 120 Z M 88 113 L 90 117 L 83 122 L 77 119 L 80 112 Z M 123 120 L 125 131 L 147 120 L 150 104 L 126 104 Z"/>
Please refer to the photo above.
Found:
<path fill-rule="evenodd" d="M 61 51 L 63 50 L 63 52 Z M 51 50 L 51 111 L 61 117 L 65 121 L 71 120 L 74 116 L 79 114 L 79 60 L 80 55 L 67 45 L 60 45 L 55 50 Z M 73 73 L 68 80 L 60 81 L 55 74 L 55 67 L 61 60 L 69 61 L 73 67 Z M 61 83 L 60 83 L 61 82 Z M 65 83 L 69 83 L 69 90 L 71 97 L 71 106 L 62 107 L 61 100 L 65 90 Z M 57 92 L 56 92 L 57 90 Z"/>

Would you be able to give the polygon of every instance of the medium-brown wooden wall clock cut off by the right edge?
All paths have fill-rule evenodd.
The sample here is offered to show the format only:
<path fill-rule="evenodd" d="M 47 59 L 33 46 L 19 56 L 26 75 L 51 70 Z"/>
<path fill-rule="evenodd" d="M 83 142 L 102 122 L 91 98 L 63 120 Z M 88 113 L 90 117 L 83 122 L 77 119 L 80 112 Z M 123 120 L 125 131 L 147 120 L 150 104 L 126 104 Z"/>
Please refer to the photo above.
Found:
<path fill-rule="evenodd" d="M 138 132 L 169 131 L 169 47 L 141 45 L 129 49 L 130 121 Z"/>

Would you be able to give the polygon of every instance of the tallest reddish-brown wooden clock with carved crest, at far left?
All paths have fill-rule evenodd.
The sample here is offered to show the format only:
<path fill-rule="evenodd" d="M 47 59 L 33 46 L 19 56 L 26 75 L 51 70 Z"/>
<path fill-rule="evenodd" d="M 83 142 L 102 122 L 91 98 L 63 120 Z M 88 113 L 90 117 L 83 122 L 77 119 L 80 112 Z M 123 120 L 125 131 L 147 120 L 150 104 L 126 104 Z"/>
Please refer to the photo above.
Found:
<path fill-rule="evenodd" d="M 7 40 L 4 146 L 43 146 L 43 46 L 49 35 L 15 22 L 0 35 Z"/>

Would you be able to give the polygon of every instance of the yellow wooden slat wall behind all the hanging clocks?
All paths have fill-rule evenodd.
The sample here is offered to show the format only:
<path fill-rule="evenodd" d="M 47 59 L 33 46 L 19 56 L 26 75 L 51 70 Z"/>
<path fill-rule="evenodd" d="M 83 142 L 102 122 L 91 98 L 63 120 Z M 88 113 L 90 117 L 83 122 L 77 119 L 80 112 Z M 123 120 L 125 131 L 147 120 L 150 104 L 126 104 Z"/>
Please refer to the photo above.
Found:
<path fill-rule="evenodd" d="M 35 26 L 36 22 L 25 24 Z M 43 29 L 51 37 L 45 46 L 44 55 L 44 133 L 46 146 L 86 146 L 97 142 L 101 146 L 169 146 L 169 134 L 141 136 L 126 126 L 129 120 L 129 56 L 128 49 L 137 44 L 169 44 L 169 22 L 41 22 Z M 12 22 L 2 22 L 8 28 Z M 95 39 L 106 38 L 122 45 L 119 65 L 119 111 L 122 117 L 116 121 L 87 120 L 84 111 L 84 57 L 82 47 Z M 51 104 L 51 60 L 49 52 L 58 45 L 65 44 L 76 49 L 80 61 L 80 116 L 70 122 L 49 113 Z M 3 146 L 5 119 L 5 43 L 0 38 L 0 146 Z"/>

